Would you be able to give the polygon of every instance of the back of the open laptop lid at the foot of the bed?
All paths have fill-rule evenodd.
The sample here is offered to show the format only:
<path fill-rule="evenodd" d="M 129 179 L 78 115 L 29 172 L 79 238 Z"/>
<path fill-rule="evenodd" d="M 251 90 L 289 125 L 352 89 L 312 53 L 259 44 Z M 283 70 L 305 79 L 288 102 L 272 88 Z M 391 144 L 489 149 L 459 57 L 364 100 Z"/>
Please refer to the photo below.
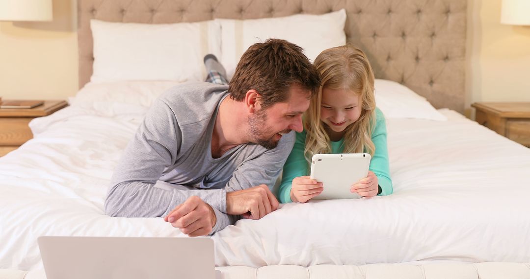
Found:
<path fill-rule="evenodd" d="M 47 279 L 220 279 L 214 241 L 181 237 L 38 238 Z"/>

